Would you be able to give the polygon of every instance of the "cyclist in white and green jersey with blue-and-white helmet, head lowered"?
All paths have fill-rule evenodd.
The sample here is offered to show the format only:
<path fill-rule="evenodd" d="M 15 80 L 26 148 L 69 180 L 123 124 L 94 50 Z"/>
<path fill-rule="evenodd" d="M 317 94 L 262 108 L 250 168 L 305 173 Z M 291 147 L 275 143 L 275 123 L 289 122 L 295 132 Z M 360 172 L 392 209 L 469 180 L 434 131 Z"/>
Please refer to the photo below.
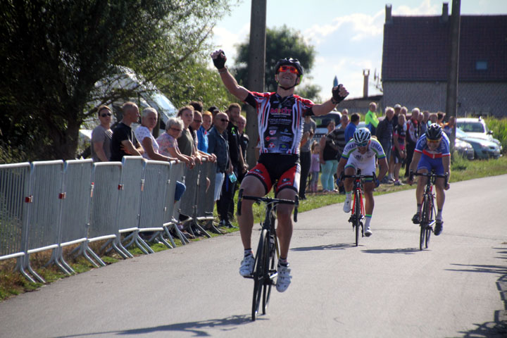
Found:
<path fill-rule="evenodd" d="M 379 175 L 376 182 L 372 179 L 365 179 L 364 192 L 365 192 L 365 228 L 364 233 L 366 237 L 370 237 L 372 231 L 370 229 L 370 222 L 373 215 L 373 208 L 375 201 L 373 199 L 373 189 L 378 187 L 380 180 L 384 178 L 389 166 L 384 154 L 384 149 L 377 139 L 371 137 L 371 132 L 368 128 L 358 128 L 353 133 L 353 137 L 347 142 L 342 158 L 338 163 L 337 175 L 341 175 L 345 170 L 345 175 L 356 175 L 357 170 L 361 170 L 361 175 L 373 175 L 375 173 L 375 158 L 378 159 L 380 166 Z M 347 177 L 344 182 L 345 186 L 345 203 L 344 212 L 351 211 L 352 202 L 352 189 L 353 178 Z"/>

